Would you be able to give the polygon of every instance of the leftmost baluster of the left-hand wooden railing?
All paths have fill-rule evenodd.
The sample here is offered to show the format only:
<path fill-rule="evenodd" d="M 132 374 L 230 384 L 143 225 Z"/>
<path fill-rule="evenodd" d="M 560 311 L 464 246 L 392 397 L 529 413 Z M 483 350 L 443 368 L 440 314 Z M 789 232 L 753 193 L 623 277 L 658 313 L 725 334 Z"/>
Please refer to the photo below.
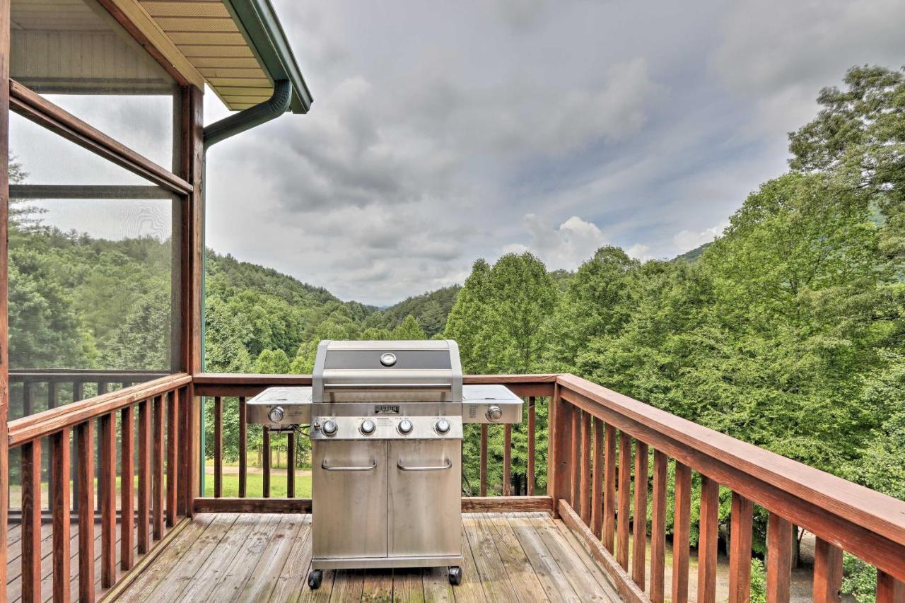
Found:
<path fill-rule="evenodd" d="M 41 440 L 26 442 L 22 454 L 22 600 L 41 598 Z M 5 585 L 3 585 L 5 588 Z"/>

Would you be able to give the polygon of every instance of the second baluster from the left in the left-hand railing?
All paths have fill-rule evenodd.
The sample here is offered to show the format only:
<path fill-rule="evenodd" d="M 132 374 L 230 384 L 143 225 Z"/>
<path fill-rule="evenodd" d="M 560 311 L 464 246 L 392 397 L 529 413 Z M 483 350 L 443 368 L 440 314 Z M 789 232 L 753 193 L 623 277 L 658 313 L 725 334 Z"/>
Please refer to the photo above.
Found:
<path fill-rule="evenodd" d="M 69 603 L 71 598 L 69 552 L 69 429 L 50 436 L 52 480 L 51 512 L 53 516 L 53 601 Z"/>

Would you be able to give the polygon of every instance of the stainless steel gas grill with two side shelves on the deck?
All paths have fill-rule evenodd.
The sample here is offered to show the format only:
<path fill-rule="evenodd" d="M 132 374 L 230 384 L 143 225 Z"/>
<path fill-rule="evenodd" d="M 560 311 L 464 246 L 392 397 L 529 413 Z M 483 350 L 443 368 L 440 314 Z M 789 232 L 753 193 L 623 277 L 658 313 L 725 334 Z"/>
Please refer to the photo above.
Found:
<path fill-rule="evenodd" d="M 448 566 L 462 580 L 462 424 L 519 423 L 502 386 L 462 386 L 452 340 L 321 341 L 311 388 L 270 388 L 252 423 L 310 423 L 313 558 L 322 570 Z"/>

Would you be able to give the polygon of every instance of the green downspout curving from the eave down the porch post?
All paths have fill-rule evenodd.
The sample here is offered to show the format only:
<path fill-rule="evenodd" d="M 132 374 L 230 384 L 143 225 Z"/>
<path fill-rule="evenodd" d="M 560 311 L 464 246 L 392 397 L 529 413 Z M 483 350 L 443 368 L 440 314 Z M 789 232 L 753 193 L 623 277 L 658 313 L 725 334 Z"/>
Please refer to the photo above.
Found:
<path fill-rule="evenodd" d="M 235 136 L 246 129 L 252 129 L 280 117 L 289 110 L 292 101 L 292 84 L 289 80 L 278 80 L 273 82 L 273 95 L 267 101 L 263 101 L 253 107 L 241 110 L 238 113 L 230 115 L 223 120 L 214 121 L 209 126 L 205 126 L 205 160 L 203 169 L 205 174 L 202 175 L 202 182 L 206 182 L 207 171 L 207 149 L 221 140 Z M 205 196 L 207 187 L 202 188 L 202 196 Z M 204 237 L 205 229 L 202 228 L 202 236 Z M 205 369 L 205 242 L 202 241 L 201 254 L 201 369 Z M 199 448 L 201 450 L 201 495 L 205 495 L 205 405 L 201 405 L 201 442 Z"/>

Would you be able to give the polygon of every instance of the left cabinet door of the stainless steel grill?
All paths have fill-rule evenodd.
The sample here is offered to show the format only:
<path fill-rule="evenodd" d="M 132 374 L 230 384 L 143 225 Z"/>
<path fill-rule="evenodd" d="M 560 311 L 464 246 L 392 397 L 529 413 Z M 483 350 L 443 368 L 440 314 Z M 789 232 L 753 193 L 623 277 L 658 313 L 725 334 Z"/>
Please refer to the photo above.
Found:
<path fill-rule="evenodd" d="M 314 557 L 386 557 L 386 440 L 319 440 L 312 456 Z"/>

